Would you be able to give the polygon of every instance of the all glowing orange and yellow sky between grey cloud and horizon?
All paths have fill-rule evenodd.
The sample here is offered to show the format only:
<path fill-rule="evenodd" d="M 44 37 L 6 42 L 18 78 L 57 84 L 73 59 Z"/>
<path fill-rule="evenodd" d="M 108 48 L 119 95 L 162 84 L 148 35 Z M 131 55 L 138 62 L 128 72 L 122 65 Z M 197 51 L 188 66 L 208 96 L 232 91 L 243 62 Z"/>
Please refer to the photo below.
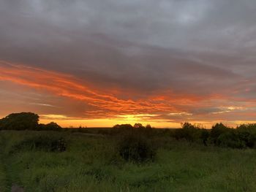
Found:
<path fill-rule="evenodd" d="M 40 96 L 48 95 L 50 103 L 34 96 L 37 101 L 26 100 L 20 109 L 39 113 L 42 123 L 56 121 L 61 126 L 108 127 L 116 123 L 141 122 L 163 128 L 179 127 L 181 122 L 189 121 L 209 127 L 218 121 L 235 125 L 243 120 L 236 120 L 232 118 L 233 115 L 238 112 L 241 117 L 243 113 L 249 114 L 246 105 L 229 105 L 230 98 L 224 95 L 182 95 L 165 90 L 143 98 L 136 98 L 132 94 L 138 93 L 129 92 L 130 98 L 121 99 L 118 90 L 105 91 L 97 86 L 86 85 L 86 82 L 69 74 L 7 61 L 0 61 L 0 82 L 11 83 L 21 89 L 29 88 Z M 51 97 L 55 98 L 55 102 Z M 18 97 L 16 99 L 22 100 Z M 222 105 L 224 103 L 226 106 Z M 208 108 L 214 110 L 204 111 Z M 1 110 L 1 115 L 5 112 L 9 111 Z"/>

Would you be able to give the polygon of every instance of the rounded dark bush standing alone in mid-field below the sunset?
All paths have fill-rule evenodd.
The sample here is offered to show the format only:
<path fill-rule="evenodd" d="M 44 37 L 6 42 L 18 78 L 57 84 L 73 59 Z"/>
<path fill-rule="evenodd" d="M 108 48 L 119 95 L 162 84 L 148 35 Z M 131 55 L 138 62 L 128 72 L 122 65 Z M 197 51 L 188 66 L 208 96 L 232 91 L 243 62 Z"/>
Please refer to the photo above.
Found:
<path fill-rule="evenodd" d="M 156 148 L 142 134 L 132 131 L 119 141 L 118 153 L 126 161 L 153 161 L 156 155 Z"/>

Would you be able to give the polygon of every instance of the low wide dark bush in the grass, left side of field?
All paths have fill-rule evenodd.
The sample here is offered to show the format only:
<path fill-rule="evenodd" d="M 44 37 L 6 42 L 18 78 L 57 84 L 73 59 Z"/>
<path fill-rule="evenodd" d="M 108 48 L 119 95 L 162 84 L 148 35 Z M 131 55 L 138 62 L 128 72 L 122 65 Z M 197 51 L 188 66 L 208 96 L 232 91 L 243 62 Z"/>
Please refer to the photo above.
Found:
<path fill-rule="evenodd" d="M 17 145 L 14 145 L 13 150 L 45 150 L 50 152 L 64 152 L 67 148 L 67 144 L 63 138 L 37 136 L 24 139 Z"/>

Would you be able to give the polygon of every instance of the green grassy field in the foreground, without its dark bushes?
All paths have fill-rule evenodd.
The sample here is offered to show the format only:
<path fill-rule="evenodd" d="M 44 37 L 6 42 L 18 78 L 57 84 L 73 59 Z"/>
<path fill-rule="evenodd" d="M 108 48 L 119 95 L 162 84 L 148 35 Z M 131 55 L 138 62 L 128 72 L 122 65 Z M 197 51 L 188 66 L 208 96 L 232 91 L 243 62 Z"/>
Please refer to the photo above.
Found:
<path fill-rule="evenodd" d="M 63 137 L 65 152 L 18 148 L 26 138 Z M 255 191 L 256 151 L 156 137 L 154 162 L 124 161 L 117 137 L 69 131 L 0 131 L 0 191 Z"/>

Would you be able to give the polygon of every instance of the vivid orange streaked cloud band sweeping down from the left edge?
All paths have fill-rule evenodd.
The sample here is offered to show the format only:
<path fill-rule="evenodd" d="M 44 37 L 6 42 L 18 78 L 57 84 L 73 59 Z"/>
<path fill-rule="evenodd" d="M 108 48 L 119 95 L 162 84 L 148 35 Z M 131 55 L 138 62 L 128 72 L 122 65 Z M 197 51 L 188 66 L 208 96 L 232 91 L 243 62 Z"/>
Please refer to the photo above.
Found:
<path fill-rule="evenodd" d="M 50 72 L 44 69 L 33 68 L 24 65 L 10 64 L 5 61 L 0 62 L 0 80 L 15 82 L 32 88 L 49 91 L 59 96 L 71 99 L 83 100 L 91 106 L 98 107 L 105 112 L 116 112 L 120 114 L 130 113 L 150 113 L 150 112 L 170 112 L 176 110 L 164 97 L 148 97 L 147 100 L 118 99 L 112 94 L 100 93 L 94 88 L 89 88 L 79 82 L 75 77 L 68 74 Z M 170 97 L 170 96 L 169 96 Z M 169 98 L 170 99 L 170 98 Z M 194 98 L 175 98 L 173 102 L 194 100 Z"/>

